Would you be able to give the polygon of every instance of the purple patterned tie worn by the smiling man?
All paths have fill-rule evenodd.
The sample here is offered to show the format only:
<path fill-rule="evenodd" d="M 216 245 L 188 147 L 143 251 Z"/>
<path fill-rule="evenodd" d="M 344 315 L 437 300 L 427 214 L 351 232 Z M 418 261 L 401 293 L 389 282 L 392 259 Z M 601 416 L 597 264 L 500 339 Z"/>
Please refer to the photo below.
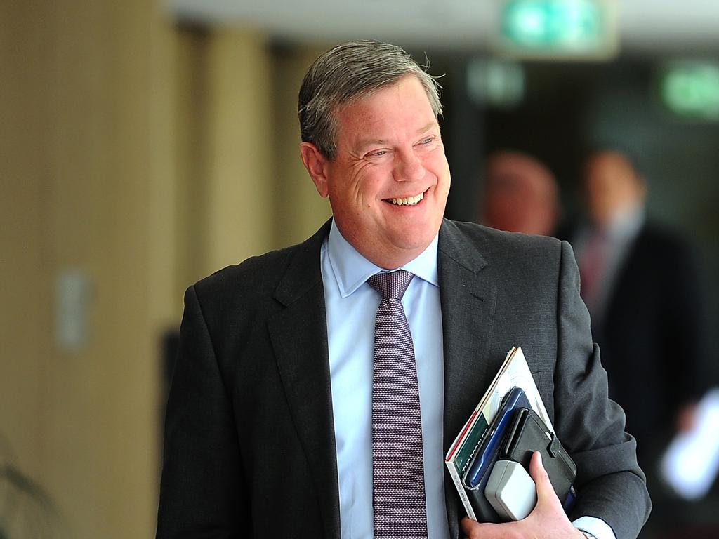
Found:
<path fill-rule="evenodd" d="M 412 333 L 402 296 L 414 275 L 372 275 L 380 292 L 372 368 L 372 506 L 375 539 L 427 537 L 422 419 Z"/>

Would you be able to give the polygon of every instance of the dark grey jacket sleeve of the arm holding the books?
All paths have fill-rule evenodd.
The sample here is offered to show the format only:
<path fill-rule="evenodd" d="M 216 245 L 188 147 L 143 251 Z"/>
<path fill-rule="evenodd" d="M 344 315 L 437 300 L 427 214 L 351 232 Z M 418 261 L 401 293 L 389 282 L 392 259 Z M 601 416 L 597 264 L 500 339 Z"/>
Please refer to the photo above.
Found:
<path fill-rule="evenodd" d="M 579 294 L 572 248 L 562 242 L 557 304 L 554 426 L 577 464 L 577 503 L 570 520 L 598 517 L 617 539 L 636 538 L 651 502 L 636 461 L 636 441 L 624 431 L 623 410 L 608 397 L 600 351 Z"/>

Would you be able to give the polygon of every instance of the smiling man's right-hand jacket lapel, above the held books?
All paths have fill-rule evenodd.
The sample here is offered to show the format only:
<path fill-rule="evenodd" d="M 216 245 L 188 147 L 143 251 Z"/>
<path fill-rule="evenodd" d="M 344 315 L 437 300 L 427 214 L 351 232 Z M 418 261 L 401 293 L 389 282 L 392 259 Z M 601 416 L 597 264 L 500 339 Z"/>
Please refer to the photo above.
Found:
<path fill-rule="evenodd" d="M 482 270 L 487 262 L 476 245 L 445 220 L 437 254 L 444 338 L 444 452 L 491 380 L 487 346 L 493 330 L 497 290 Z M 494 373 L 491 373 L 494 374 Z M 447 517 L 452 537 L 462 514 L 454 484 L 446 478 Z"/>

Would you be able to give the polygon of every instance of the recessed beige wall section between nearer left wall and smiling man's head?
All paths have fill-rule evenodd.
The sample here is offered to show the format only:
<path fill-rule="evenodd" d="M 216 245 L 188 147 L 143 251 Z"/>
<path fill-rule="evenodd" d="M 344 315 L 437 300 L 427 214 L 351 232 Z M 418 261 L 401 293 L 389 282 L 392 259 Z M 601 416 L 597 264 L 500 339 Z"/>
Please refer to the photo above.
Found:
<path fill-rule="evenodd" d="M 297 93 L 319 50 L 278 49 L 237 29 L 178 31 L 178 297 L 329 218 L 298 149 Z"/>

